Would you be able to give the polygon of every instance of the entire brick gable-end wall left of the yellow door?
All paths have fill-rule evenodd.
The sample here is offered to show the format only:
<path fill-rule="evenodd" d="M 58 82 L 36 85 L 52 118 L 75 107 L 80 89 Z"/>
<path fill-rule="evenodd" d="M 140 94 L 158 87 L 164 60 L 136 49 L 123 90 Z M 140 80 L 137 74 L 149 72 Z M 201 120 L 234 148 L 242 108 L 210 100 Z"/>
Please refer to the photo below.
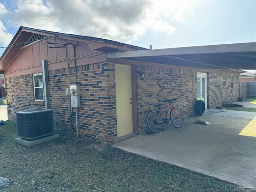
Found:
<path fill-rule="evenodd" d="M 80 85 L 81 108 L 78 111 L 79 134 L 104 144 L 117 141 L 116 91 L 114 64 L 100 63 L 77 67 L 77 84 Z M 54 114 L 54 128 L 73 131 L 76 134 L 76 120 L 71 130 L 69 96 L 66 88 L 74 83 L 74 67 L 48 72 L 50 106 Z M 16 112 L 35 107 L 45 107 L 34 102 L 33 75 L 7 79 L 8 119 L 16 121 Z M 73 108 L 73 114 L 75 109 Z"/>

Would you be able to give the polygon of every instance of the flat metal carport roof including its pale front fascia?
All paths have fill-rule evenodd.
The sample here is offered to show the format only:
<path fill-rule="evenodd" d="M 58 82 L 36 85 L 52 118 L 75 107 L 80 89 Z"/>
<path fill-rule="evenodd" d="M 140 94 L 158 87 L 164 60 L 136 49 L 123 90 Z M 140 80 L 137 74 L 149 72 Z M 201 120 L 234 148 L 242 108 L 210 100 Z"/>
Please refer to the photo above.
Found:
<path fill-rule="evenodd" d="M 108 58 L 202 69 L 256 70 L 256 42 L 110 52 Z"/>

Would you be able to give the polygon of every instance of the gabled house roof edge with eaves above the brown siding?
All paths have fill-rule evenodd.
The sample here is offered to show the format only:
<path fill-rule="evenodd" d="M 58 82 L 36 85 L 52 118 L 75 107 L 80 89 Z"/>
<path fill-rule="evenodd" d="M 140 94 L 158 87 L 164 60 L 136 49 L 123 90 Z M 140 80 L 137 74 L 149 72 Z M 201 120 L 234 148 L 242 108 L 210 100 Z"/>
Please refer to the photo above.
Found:
<path fill-rule="evenodd" d="M 40 29 L 21 26 L 18 32 L 15 34 L 12 41 L 10 42 L 8 48 L 6 48 L 6 50 L 0 57 L 0 72 L 3 72 L 6 66 L 18 54 L 22 46 L 28 44 L 28 42 L 31 43 L 32 41 L 42 40 L 43 37 L 47 37 L 47 36 L 55 36 L 55 37 L 65 38 L 65 39 L 74 40 L 78 42 L 93 41 L 93 42 L 102 43 L 102 47 L 97 48 L 95 50 L 105 51 L 105 52 L 146 50 L 146 48 L 133 46 L 130 44 L 125 44 L 125 43 L 116 42 L 112 40 L 102 39 L 102 38 L 95 38 L 95 37 L 88 37 L 88 36 L 81 36 L 81 35 L 74 35 L 74 34 L 65 34 L 60 32 L 52 32 L 52 31 L 46 31 L 46 30 L 40 30 Z"/>

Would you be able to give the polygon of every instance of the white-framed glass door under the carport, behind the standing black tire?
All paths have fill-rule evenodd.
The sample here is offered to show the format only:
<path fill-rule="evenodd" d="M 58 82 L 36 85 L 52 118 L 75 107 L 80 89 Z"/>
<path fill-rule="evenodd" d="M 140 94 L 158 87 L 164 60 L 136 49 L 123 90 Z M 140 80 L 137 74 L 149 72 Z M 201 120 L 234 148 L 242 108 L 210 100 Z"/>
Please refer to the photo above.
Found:
<path fill-rule="evenodd" d="M 197 73 L 197 100 L 203 100 L 207 109 L 207 82 L 206 73 Z"/>

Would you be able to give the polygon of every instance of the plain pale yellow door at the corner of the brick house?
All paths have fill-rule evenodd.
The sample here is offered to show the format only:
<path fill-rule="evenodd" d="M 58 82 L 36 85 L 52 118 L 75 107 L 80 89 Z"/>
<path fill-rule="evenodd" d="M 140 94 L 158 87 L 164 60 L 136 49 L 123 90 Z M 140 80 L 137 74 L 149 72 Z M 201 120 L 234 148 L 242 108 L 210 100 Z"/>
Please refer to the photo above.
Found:
<path fill-rule="evenodd" d="M 133 132 L 131 66 L 115 64 L 117 137 Z"/>

